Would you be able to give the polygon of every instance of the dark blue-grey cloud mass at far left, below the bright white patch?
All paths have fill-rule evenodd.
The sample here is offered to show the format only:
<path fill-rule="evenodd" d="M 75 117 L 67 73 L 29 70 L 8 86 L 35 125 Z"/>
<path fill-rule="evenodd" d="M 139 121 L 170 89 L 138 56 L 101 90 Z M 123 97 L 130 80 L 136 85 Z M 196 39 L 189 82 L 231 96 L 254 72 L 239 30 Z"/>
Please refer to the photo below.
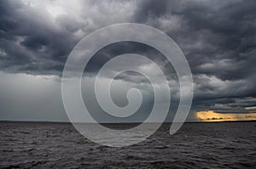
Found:
<path fill-rule="evenodd" d="M 58 20 L 54 25 L 45 11 L 19 1 L 3 1 L 0 8 L 1 47 L 6 54 L 1 57 L 2 70 L 28 74 L 61 71 L 67 54 L 78 42 L 67 31 L 68 25 Z"/>

